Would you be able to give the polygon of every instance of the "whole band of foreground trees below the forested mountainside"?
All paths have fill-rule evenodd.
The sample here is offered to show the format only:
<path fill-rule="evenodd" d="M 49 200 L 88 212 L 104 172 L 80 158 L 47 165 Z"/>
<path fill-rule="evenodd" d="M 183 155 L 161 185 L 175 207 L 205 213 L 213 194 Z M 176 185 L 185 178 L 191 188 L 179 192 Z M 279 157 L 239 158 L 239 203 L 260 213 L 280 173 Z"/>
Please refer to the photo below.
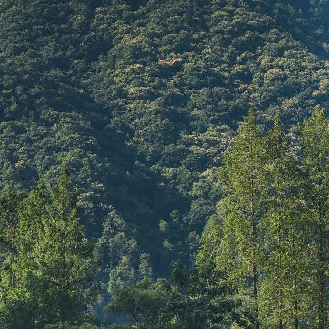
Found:
<path fill-rule="evenodd" d="M 178 261 L 170 281 L 152 282 L 148 255 L 140 255 L 136 273 L 125 256 L 120 273 L 108 276 L 112 298 L 104 313 L 148 329 L 327 328 L 325 110 L 316 107 L 299 131 L 292 146 L 276 115 L 262 136 L 250 110 L 219 168 L 223 198 L 206 225 L 195 268 Z M 125 238 L 125 223 L 113 212 L 99 241 L 87 240 L 76 200 L 66 162 L 53 186 L 40 181 L 28 194 L 8 187 L 1 195 L 4 328 L 100 324 L 99 250 L 107 246 L 111 256 L 121 245 L 123 254 L 130 250 L 136 258 L 138 247 Z M 121 233 L 114 235 L 113 225 Z M 103 266 L 111 269 L 110 256 Z"/>

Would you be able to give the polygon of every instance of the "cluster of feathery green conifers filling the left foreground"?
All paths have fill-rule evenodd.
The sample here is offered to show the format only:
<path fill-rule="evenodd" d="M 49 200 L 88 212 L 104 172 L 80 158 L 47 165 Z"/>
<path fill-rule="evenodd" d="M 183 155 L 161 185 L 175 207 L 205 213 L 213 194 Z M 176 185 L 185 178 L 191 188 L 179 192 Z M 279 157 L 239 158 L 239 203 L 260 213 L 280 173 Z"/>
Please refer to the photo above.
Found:
<path fill-rule="evenodd" d="M 0 303 L 5 328 L 43 328 L 88 318 L 99 294 L 94 243 L 79 223 L 65 162 L 54 187 L 1 195 Z"/>

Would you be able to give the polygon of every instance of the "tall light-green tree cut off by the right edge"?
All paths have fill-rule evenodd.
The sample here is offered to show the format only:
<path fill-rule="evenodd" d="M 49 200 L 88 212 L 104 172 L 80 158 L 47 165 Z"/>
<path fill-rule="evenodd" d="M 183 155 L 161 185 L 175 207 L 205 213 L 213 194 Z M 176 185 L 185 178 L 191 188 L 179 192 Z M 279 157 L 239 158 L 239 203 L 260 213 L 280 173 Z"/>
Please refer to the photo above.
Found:
<path fill-rule="evenodd" d="M 312 291 L 316 304 L 314 312 L 319 329 L 328 323 L 328 261 L 329 261 L 329 212 L 328 212 L 328 156 L 329 125 L 325 109 L 316 107 L 311 117 L 300 127 L 304 156 L 303 215 L 305 246 L 310 259 L 311 275 L 315 278 Z"/>

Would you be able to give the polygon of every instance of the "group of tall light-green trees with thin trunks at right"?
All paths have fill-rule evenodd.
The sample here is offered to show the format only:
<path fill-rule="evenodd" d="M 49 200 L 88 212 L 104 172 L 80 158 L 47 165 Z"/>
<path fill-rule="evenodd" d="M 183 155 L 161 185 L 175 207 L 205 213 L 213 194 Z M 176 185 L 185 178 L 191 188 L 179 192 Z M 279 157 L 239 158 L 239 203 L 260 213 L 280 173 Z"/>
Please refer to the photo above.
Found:
<path fill-rule="evenodd" d="M 210 221 L 202 237 L 198 264 L 215 257 L 252 310 L 255 329 L 328 327 L 324 109 L 300 125 L 300 138 L 299 154 L 277 115 L 262 137 L 249 112 L 220 169 L 220 222 Z"/>

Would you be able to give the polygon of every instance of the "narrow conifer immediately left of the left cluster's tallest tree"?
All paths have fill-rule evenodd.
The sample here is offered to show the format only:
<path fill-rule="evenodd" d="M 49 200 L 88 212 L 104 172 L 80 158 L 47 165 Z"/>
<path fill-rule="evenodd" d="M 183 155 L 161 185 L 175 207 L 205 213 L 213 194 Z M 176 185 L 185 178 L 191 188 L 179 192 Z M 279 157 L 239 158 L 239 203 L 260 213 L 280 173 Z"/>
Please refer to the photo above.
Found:
<path fill-rule="evenodd" d="M 42 326 L 40 318 L 43 316 L 44 299 L 40 296 L 45 291 L 42 284 L 43 278 L 40 275 L 40 268 L 43 264 L 41 241 L 44 235 L 43 221 L 47 216 L 48 202 L 49 195 L 46 186 L 43 181 L 40 181 L 20 202 L 18 208 L 19 263 L 26 296 L 20 306 L 23 311 L 20 312 L 21 318 L 17 314 L 13 314 L 11 321 L 16 326 L 18 323 L 24 323 L 24 328 Z"/>

